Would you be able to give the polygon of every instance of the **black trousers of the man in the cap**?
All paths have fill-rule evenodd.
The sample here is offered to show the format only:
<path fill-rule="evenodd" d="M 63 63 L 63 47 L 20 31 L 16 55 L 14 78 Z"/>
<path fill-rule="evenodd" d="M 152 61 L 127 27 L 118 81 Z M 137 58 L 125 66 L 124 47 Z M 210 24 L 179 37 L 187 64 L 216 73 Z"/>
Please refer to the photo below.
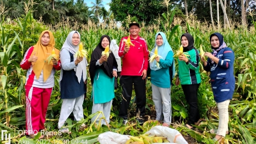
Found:
<path fill-rule="evenodd" d="M 142 76 L 121 76 L 120 85 L 122 87 L 122 101 L 119 109 L 119 116 L 127 119 L 133 85 L 136 94 L 136 113 L 140 113 L 140 116 L 145 115 L 146 107 L 146 80 L 142 79 Z"/>

